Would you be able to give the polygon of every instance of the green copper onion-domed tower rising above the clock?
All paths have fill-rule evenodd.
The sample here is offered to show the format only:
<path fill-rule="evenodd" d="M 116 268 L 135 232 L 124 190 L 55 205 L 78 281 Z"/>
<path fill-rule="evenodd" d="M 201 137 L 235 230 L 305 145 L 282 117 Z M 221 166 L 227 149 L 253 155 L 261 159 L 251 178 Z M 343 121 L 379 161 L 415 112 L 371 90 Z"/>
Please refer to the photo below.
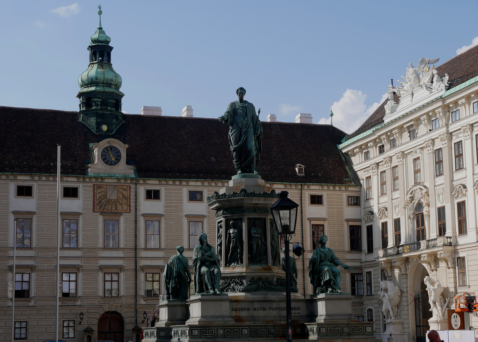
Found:
<path fill-rule="evenodd" d="M 78 121 L 97 134 L 113 134 L 124 122 L 121 112 L 121 99 L 124 94 L 120 91 L 121 76 L 111 65 L 111 38 L 103 31 L 103 11 L 101 6 L 98 8 L 98 29 L 91 36 L 88 45 L 89 65 L 78 78 Z"/>

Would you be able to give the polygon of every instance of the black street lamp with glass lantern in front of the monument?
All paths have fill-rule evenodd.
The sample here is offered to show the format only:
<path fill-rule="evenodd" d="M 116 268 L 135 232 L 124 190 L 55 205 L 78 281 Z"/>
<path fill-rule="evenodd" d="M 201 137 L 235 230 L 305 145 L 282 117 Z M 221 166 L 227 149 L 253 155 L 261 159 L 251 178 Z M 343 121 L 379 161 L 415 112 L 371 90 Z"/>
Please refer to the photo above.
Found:
<path fill-rule="evenodd" d="M 292 305 L 291 305 L 291 275 L 289 261 L 289 243 L 295 234 L 297 223 L 297 208 L 299 205 L 288 198 L 288 191 L 279 192 L 279 200 L 271 207 L 277 232 L 282 235 L 285 245 L 285 309 L 286 309 L 286 339 L 292 342 Z M 295 248 L 294 248 L 295 250 Z"/>

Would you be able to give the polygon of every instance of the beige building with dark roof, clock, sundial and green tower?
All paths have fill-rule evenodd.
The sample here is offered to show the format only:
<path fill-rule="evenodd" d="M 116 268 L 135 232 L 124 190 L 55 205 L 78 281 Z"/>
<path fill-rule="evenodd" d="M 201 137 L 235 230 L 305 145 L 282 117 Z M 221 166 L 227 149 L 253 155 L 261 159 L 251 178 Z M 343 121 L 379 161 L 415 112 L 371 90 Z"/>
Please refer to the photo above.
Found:
<path fill-rule="evenodd" d="M 191 260 L 202 230 L 216 245 L 206 198 L 236 173 L 228 128 L 192 117 L 189 107 L 182 117 L 123 114 L 109 43 L 100 21 L 78 80 L 78 111 L 0 107 L 0 341 L 11 339 L 12 296 L 15 339 L 54 339 L 58 143 L 59 339 L 135 338 L 164 293 L 164 266 L 176 246 Z M 301 205 L 293 239 L 306 250 L 297 260 L 299 293 L 313 293 L 308 259 L 327 234 L 337 257 L 357 270 L 343 271 L 341 287 L 356 295 L 354 314 L 363 320 L 362 254 L 350 252 L 347 238 L 361 225 L 360 186 L 337 149 L 345 133 L 273 119 L 262 127 L 261 177 Z"/>

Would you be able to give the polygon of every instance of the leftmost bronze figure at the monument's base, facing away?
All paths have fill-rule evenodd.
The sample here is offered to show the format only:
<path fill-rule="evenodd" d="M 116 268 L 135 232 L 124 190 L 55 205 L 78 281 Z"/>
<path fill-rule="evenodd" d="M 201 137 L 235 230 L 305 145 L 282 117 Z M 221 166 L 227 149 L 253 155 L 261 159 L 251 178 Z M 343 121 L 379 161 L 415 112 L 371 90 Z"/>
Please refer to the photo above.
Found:
<path fill-rule="evenodd" d="M 177 246 L 176 251 L 178 254 L 169 258 L 164 272 L 166 295 L 169 299 L 186 300 L 189 295 L 189 286 L 191 284 L 189 262 L 183 255 L 183 246 Z"/>

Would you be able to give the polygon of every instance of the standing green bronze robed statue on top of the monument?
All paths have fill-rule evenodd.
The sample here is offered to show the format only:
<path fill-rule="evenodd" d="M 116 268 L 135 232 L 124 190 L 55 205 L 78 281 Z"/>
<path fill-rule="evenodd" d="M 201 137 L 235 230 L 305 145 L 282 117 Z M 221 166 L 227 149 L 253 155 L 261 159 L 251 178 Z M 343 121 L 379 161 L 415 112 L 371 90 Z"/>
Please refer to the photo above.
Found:
<path fill-rule="evenodd" d="M 239 99 L 229 103 L 219 121 L 229 126 L 229 146 L 237 173 L 259 175 L 256 165 L 262 151 L 262 124 L 254 105 L 244 100 L 246 89 L 240 87 L 236 94 Z"/>

